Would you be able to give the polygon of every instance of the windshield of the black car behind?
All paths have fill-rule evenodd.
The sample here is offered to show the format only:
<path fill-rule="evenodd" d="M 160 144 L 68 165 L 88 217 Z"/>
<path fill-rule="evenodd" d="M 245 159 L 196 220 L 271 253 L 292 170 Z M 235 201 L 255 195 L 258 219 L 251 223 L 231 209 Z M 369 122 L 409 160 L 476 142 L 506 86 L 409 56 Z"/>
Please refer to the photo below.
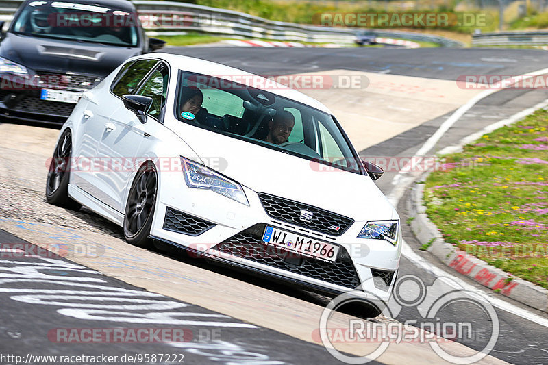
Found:
<path fill-rule="evenodd" d="M 121 47 L 138 45 L 135 14 L 103 5 L 66 1 L 28 3 L 14 20 L 12 32 Z"/>

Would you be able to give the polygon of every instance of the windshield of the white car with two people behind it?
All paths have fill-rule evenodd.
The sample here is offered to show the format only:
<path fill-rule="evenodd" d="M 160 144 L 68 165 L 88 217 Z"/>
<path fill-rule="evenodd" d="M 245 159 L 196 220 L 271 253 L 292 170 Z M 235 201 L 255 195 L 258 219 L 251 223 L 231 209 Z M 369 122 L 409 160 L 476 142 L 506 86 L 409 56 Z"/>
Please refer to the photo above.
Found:
<path fill-rule="evenodd" d="M 262 88 L 269 88 L 262 77 L 245 77 L 254 77 Z M 352 147 L 332 115 L 266 90 L 242 85 L 234 77 L 232 80 L 181 72 L 175 106 L 179 121 L 362 173 Z M 280 87 L 273 81 L 270 86 Z"/>

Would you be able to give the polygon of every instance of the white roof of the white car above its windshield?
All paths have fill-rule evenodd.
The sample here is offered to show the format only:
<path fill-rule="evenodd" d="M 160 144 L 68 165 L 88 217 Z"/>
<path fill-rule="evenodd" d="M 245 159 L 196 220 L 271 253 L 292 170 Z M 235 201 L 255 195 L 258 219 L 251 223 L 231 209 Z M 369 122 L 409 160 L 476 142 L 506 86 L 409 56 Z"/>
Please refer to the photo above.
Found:
<path fill-rule="evenodd" d="M 239 70 L 238 68 L 225 66 L 224 64 L 218 64 L 216 62 L 210 62 L 206 60 L 201 60 L 199 58 L 192 58 L 184 55 L 174 55 L 171 53 L 149 53 L 148 55 L 145 54 L 145 55 L 137 56 L 137 58 L 147 58 L 147 57 L 150 58 L 151 56 L 162 58 L 163 60 L 166 60 L 167 62 L 169 62 L 169 64 L 171 64 L 172 67 L 177 67 L 179 69 L 182 69 L 183 71 L 189 71 L 192 73 L 201 73 L 203 75 L 213 75 L 215 77 L 219 77 L 221 79 L 228 79 L 228 80 L 231 80 L 231 76 L 250 75 L 250 76 L 253 76 L 253 80 L 256 82 L 258 79 L 268 81 L 269 85 L 272 85 L 271 83 L 273 82 L 271 80 L 264 79 L 264 77 L 254 75 L 253 73 L 248 73 L 247 71 Z M 240 84 L 256 87 L 256 85 L 253 85 L 253 82 L 246 82 L 246 81 L 249 81 L 249 79 L 245 77 L 240 77 L 237 80 L 237 82 L 239 82 Z M 316 99 L 313 99 L 312 97 L 308 97 L 307 95 L 304 95 L 302 92 L 299 92 L 295 89 L 288 88 L 287 86 L 284 86 L 282 84 L 278 84 L 277 82 L 275 82 L 274 84 L 275 84 L 275 87 L 266 88 L 265 90 L 272 92 L 275 95 L 279 95 L 280 97 L 286 97 L 288 99 L 292 99 L 299 103 L 310 105 L 312 108 L 316 108 L 318 110 L 321 110 L 322 112 L 332 114 L 332 112 L 325 105 L 323 105 Z"/>

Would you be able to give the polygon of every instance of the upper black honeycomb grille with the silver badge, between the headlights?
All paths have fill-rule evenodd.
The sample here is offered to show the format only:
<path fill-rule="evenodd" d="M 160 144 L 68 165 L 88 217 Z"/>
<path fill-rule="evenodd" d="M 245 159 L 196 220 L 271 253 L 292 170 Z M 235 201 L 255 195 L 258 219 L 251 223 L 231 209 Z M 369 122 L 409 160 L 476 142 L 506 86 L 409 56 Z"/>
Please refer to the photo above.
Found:
<path fill-rule="evenodd" d="M 353 219 L 319 207 L 299 203 L 274 195 L 258 193 L 266 214 L 287 223 L 293 223 L 332 236 L 340 236 L 354 223 Z M 301 220 L 301 210 L 312 212 L 310 222 Z M 338 230 L 334 227 L 339 227 Z"/>

